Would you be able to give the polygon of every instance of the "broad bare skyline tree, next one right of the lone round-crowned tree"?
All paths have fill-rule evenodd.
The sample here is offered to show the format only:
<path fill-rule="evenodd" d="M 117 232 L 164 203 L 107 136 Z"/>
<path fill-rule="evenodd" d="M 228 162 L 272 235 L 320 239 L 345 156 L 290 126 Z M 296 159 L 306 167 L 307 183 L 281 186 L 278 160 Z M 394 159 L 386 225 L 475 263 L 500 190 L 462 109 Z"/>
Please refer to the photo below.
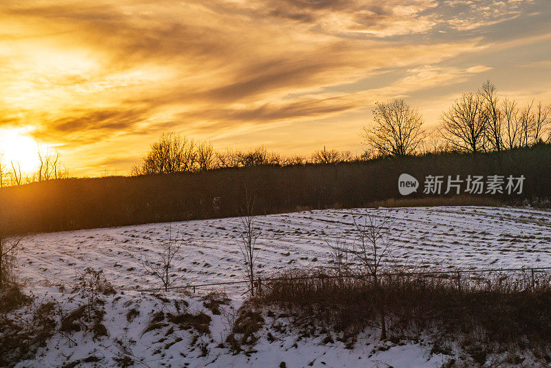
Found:
<path fill-rule="evenodd" d="M 441 116 L 441 133 L 455 150 L 477 153 L 486 150 L 488 115 L 481 96 L 464 93 Z"/>

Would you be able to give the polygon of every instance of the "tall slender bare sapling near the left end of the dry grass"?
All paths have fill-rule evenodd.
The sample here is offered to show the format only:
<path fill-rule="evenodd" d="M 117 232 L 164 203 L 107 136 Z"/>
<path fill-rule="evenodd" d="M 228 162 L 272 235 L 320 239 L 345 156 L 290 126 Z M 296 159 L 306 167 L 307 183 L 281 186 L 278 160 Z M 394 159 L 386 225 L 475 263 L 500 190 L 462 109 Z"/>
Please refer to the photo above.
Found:
<path fill-rule="evenodd" d="M 260 236 L 260 229 L 256 226 L 256 217 L 253 215 L 254 200 L 245 190 L 245 203 L 240 208 L 240 225 L 238 227 L 239 250 L 245 264 L 245 276 L 249 281 L 251 296 L 254 296 L 255 265 L 258 257 L 256 241 Z"/>

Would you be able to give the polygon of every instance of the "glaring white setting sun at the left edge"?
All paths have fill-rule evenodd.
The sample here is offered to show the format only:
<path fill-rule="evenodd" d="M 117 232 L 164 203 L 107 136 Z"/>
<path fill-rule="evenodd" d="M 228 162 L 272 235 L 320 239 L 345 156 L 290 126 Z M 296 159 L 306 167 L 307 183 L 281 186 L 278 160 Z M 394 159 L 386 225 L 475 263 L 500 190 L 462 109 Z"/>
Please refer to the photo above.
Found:
<path fill-rule="evenodd" d="M 28 135 L 29 129 L 0 129 L 0 155 L 8 170 L 19 163 L 21 172 L 30 174 L 39 166 L 38 144 Z"/>

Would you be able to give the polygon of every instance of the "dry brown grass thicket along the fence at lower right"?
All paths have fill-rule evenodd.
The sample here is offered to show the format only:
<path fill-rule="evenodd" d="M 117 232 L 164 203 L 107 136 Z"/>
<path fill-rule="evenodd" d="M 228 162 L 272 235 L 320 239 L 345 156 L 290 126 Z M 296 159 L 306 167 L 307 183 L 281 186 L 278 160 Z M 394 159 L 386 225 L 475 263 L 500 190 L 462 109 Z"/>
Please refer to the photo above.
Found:
<path fill-rule="evenodd" d="M 374 297 L 369 277 L 335 278 L 330 270 L 280 276 L 285 279 L 267 283 L 260 301 L 303 325 L 357 334 L 378 326 L 384 307 L 389 339 L 430 333 L 481 356 L 516 346 L 545 358 L 551 348 L 550 274 L 538 274 L 534 287 L 528 273 L 462 274 L 459 280 L 453 272 L 391 274 L 381 278 L 382 299 Z"/>

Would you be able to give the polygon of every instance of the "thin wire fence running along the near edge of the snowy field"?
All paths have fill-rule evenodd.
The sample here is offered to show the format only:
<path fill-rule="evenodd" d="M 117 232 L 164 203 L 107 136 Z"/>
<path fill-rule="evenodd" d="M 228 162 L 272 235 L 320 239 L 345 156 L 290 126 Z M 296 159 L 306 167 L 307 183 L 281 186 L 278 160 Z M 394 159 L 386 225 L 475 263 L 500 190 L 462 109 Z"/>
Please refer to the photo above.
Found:
<path fill-rule="evenodd" d="M 473 280 L 470 274 L 513 274 L 513 273 L 522 273 L 525 278 L 526 285 L 534 289 L 537 286 L 538 278 L 537 274 L 551 272 L 551 267 L 521 267 L 521 268 L 488 268 L 488 269 L 448 269 L 448 270 L 437 270 L 437 271 L 417 271 L 417 272 L 381 272 L 377 274 L 377 277 L 407 277 L 407 276 L 422 276 L 422 277 L 439 277 L 439 278 L 454 278 L 457 279 L 457 287 L 461 287 L 463 283 L 466 283 L 467 280 Z M 257 289 L 259 292 L 262 289 L 263 285 L 275 281 L 295 281 L 295 280 L 309 280 L 309 279 L 329 279 L 329 278 L 343 278 L 343 279 L 360 279 L 366 280 L 368 278 L 373 278 L 373 274 L 312 274 L 309 276 L 276 276 L 276 277 L 262 277 L 259 276 L 256 280 L 253 280 L 253 288 Z M 197 292 L 198 289 L 203 289 L 207 287 L 226 287 L 230 285 L 247 285 L 247 290 L 245 293 L 250 292 L 251 280 L 237 280 L 237 281 L 227 281 L 222 283 L 200 283 L 200 284 L 187 284 L 187 285 L 177 285 L 169 287 L 154 287 L 149 289 L 125 289 L 127 291 L 133 292 L 165 292 L 168 290 L 178 290 L 178 289 L 187 289 L 192 292 Z M 245 294 L 243 293 L 243 294 Z"/>

